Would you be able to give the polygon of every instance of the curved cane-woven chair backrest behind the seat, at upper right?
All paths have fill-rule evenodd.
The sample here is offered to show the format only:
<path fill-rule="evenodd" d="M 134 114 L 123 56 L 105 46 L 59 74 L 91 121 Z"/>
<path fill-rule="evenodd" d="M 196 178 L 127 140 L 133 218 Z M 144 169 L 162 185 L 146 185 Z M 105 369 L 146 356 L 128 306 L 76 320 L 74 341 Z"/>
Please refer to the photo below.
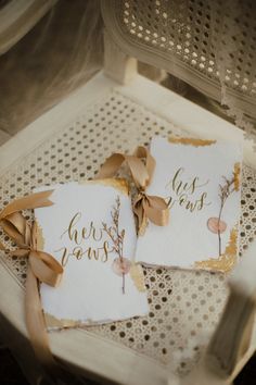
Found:
<path fill-rule="evenodd" d="M 243 115 L 254 122 L 254 0 L 102 0 L 102 14 L 112 39 L 130 57 L 226 104 L 240 126 Z"/>

